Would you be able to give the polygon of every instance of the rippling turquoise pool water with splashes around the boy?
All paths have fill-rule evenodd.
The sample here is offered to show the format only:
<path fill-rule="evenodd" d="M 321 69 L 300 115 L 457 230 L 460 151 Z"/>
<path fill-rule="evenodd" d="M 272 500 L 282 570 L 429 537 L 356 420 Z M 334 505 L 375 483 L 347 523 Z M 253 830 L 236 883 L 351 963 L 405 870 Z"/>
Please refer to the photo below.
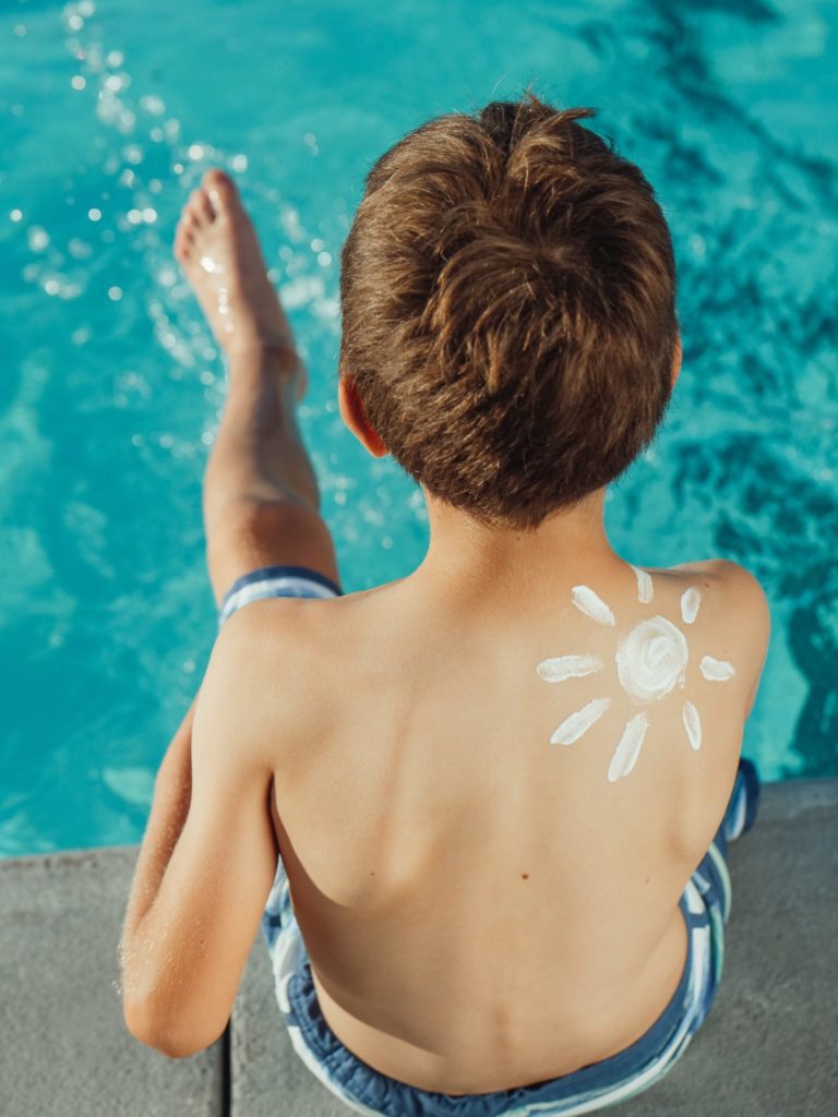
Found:
<path fill-rule="evenodd" d="M 835 3 L 8 2 L 0 12 L 0 856 L 139 840 L 215 634 L 200 485 L 223 370 L 171 257 L 239 179 L 312 371 L 349 591 L 416 566 L 416 486 L 336 402 L 340 247 L 370 162 L 527 82 L 658 190 L 685 361 L 610 494 L 627 558 L 763 582 L 746 751 L 838 773 Z"/>

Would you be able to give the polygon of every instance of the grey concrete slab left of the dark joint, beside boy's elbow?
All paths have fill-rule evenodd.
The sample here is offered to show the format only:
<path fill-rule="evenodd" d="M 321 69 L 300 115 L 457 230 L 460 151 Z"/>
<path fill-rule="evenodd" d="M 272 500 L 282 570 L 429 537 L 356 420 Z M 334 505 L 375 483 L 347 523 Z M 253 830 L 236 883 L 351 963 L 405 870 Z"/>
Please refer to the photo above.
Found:
<path fill-rule="evenodd" d="M 2 1117 L 222 1117 L 222 1043 L 173 1062 L 126 1031 L 116 944 L 136 848 L 0 861 Z"/>

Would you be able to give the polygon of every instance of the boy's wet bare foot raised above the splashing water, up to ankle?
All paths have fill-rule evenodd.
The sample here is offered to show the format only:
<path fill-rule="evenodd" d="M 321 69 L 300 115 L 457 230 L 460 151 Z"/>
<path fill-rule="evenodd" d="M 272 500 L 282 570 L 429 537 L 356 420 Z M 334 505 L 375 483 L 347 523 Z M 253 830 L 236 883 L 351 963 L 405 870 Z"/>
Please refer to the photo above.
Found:
<path fill-rule="evenodd" d="M 207 171 L 190 194 L 178 222 L 174 256 L 225 353 L 278 350 L 297 383 L 296 398 L 302 399 L 305 366 L 268 279 L 256 230 L 223 171 Z"/>

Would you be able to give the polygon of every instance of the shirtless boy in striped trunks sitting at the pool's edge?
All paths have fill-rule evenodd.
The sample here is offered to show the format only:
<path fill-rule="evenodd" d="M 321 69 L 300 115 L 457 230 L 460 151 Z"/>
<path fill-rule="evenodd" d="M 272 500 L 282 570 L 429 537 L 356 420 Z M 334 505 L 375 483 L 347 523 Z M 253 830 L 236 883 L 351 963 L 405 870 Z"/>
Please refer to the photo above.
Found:
<path fill-rule="evenodd" d="M 219 171 L 184 208 L 230 374 L 203 504 L 222 628 L 122 942 L 127 1027 L 171 1057 L 221 1034 L 260 924 L 295 1049 L 362 1113 L 588 1113 L 710 1009 L 769 613 L 734 563 L 640 569 L 606 536 L 682 352 L 666 221 L 591 115 L 493 103 L 370 172 L 340 408 L 421 485 L 430 544 L 345 596 L 253 226 Z"/>

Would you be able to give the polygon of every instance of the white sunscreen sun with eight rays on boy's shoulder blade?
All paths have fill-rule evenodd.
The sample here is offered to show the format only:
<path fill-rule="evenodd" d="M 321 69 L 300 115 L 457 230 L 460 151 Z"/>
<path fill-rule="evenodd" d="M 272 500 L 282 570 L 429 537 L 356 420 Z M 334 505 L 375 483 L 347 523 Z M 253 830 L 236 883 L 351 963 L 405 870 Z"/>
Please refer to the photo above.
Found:
<path fill-rule="evenodd" d="M 647 605 L 655 596 L 651 575 L 639 566 L 631 569 L 637 577 L 637 600 Z M 574 585 L 571 596 L 577 609 L 598 624 L 616 626 L 615 614 L 589 586 Z M 701 602 L 702 593 L 697 586 L 691 585 L 684 591 L 680 596 L 680 618 L 684 624 L 695 621 Z M 668 695 L 676 686 L 684 686 L 689 651 L 682 630 L 666 617 L 656 614 L 640 621 L 628 636 L 618 640 L 615 659 L 617 677 L 626 694 L 635 703 L 651 703 Z M 599 656 L 555 656 L 543 659 L 535 670 L 545 682 L 564 682 L 565 679 L 593 675 L 603 668 L 604 663 Z M 714 659 L 713 656 L 702 657 L 698 670 L 711 682 L 725 682 L 736 674 L 733 663 Z M 610 705 L 610 698 L 591 699 L 556 726 L 550 744 L 572 745 L 602 717 Z M 702 745 L 702 720 L 692 701 L 684 703 L 682 720 L 687 744 L 697 751 Z M 648 728 L 649 718 L 644 710 L 626 722 L 608 768 L 609 782 L 616 783 L 631 772 Z"/>

